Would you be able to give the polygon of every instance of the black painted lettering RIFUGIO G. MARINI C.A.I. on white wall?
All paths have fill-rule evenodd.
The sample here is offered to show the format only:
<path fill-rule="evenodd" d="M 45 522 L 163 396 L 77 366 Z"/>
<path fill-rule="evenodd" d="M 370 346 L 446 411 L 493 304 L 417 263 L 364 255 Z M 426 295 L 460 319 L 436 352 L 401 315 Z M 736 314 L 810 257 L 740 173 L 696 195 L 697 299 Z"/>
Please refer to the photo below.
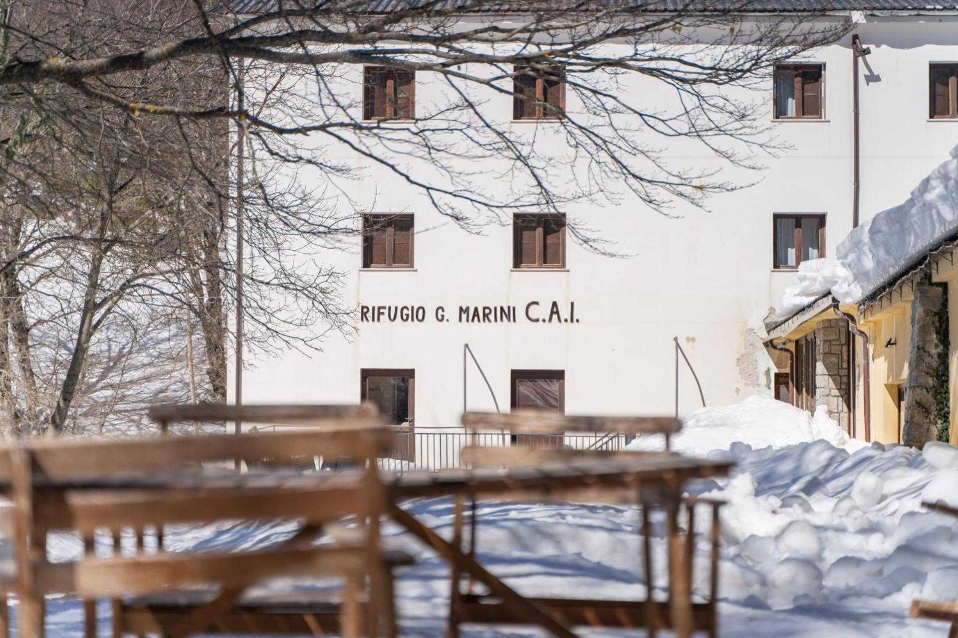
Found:
<path fill-rule="evenodd" d="M 579 323 L 576 302 L 530 301 L 524 306 L 456 306 L 448 312 L 436 306 L 427 313 L 425 306 L 359 306 L 360 323 L 422 323 L 431 317 L 437 323 Z"/>

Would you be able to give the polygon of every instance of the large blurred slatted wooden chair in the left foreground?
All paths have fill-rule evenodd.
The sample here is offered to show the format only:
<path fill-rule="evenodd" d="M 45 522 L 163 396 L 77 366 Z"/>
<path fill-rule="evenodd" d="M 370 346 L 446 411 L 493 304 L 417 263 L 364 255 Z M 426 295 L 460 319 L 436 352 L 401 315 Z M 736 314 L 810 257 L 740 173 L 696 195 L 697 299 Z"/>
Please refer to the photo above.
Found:
<path fill-rule="evenodd" d="M 43 596 L 77 593 L 84 599 L 86 635 L 96 635 L 94 601 L 113 605 L 113 635 L 189 636 L 197 632 L 297 633 L 345 636 L 395 635 L 391 569 L 408 562 L 383 552 L 379 517 L 385 488 L 376 458 L 390 435 L 373 407 L 158 407 L 160 419 L 254 422 L 311 420 L 322 429 L 277 433 L 161 436 L 129 440 L 38 441 L 0 449 L 0 481 L 11 485 L 17 547 L 15 589 L 20 599 L 20 636 L 43 634 Z M 274 418 L 275 417 L 275 418 Z M 240 460 L 327 455 L 356 460 L 349 473 L 257 473 L 250 484 L 223 470 Z M 202 464 L 219 463 L 212 474 Z M 172 475 L 172 477 L 171 477 Z M 214 479 L 211 482 L 211 477 Z M 360 539 L 313 546 L 323 525 L 353 517 L 365 526 Z M 280 547 L 239 552 L 163 552 L 162 530 L 172 523 L 226 519 L 304 520 L 304 528 Z M 158 530 L 160 551 L 143 550 L 143 530 Z M 84 539 L 80 561 L 49 563 L 46 535 L 77 530 Z M 114 538 L 110 558 L 93 552 L 96 530 Z M 119 551 L 121 529 L 137 539 L 134 556 Z M 331 601 L 308 593 L 266 595 L 263 579 L 339 576 L 345 595 Z M 192 589 L 215 583 L 217 588 Z M 184 589 L 191 588 L 191 589 Z M 133 597 L 133 598 L 127 598 Z M 363 600 L 365 597 L 365 600 Z M 259 624 L 259 625 L 258 625 Z"/>

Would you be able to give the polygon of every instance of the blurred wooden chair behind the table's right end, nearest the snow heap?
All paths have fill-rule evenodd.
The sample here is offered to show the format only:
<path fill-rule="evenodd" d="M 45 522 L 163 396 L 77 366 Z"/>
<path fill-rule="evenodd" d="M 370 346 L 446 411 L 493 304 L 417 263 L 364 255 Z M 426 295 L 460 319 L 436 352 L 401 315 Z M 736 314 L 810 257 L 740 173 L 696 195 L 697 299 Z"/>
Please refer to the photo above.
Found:
<path fill-rule="evenodd" d="M 647 459 L 654 465 L 659 462 L 663 471 L 668 467 L 670 458 L 677 455 L 668 451 L 669 438 L 681 429 L 681 422 L 671 417 L 605 417 L 605 416 L 566 416 L 553 411 L 517 410 L 512 413 L 467 412 L 463 415 L 463 426 L 472 434 L 473 440 L 482 431 L 509 432 L 510 446 L 489 447 L 470 445 L 461 451 L 462 461 L 470 467 L 555 467 L 557 465 L 575 465 L 577 463 L 602 461 L 608 459 Z M 609 435 L 664 435 L 663 451 L 604 451 L 573 450 L 565 446 L 544 449 L 528 445 L 538 436 L 563 437 L 570 432 L 604 432 Z M 489 437 L 484 437 L 487 440 Z M 506 441 L 505 435 L 502 437 Z M 521 445 L 527 443 L 527 445 Z M 649 636 L 659 629 L 672 629 L 676 635 L 692 635 L 694 631 L 705 631 L 709 636 L 717 635 L 716 603 L 718 600 L 719 565 L 719 505 L 717 501 L 681 498 L 682 486 L 675 484 L 669 490 L 650 492 L 638 486 L 638 495 L 634 492 L 624 494 L 627 501 L 638 501 L 642 505 L 643 536 L 643 572 L 644 580 L 649 584 L 646 600 L 637 602 L 611 602 L 567 599 L 530 599 L 548 609 L 557 618 L 568 625 L 589 625 L 593 627 L 646 627 Z M 611 496 L 611 497 L 610 497 Z M 567 500 L 588 501 L 599 498 L 603 502 L 614 500 L 615 495 L 607 492 L 599 495 L 586 489 L 580 493 L 566 493 Z M 706 603 L 692 603 L 693 559 L 695 552 L 694 525 L 696 505 L 704 504 L 711 508 L 711 574 L 710 592 Z M 669 537 L 669 583 L 668 600 L 655 601 L 652 597 L 652 561 L 650 552 L 651 522 L 650 511 L 664 509 L 667 513 Z M 688 531 L 683 536 L 679 529 L 680 511 L 684 509 Z M 454 511 L 452 538 L 453 544 L 463 547 L 465 507 L 463 499 L 457 499 Z M 471 503 L 469 517 L 468 554 L 474 556 L 476 548 L 475 502 Z M 462 588 L 462 574 L 455 567 L 452 573 L 452 593 L 450 596 L 447 638 L 458 638 L 459 625 L 463 622 L 520 622 L 521 619 L 508 618 L 503 614 L 501 605 L 486 595 L 472 591 L 472 583 Z"/>

